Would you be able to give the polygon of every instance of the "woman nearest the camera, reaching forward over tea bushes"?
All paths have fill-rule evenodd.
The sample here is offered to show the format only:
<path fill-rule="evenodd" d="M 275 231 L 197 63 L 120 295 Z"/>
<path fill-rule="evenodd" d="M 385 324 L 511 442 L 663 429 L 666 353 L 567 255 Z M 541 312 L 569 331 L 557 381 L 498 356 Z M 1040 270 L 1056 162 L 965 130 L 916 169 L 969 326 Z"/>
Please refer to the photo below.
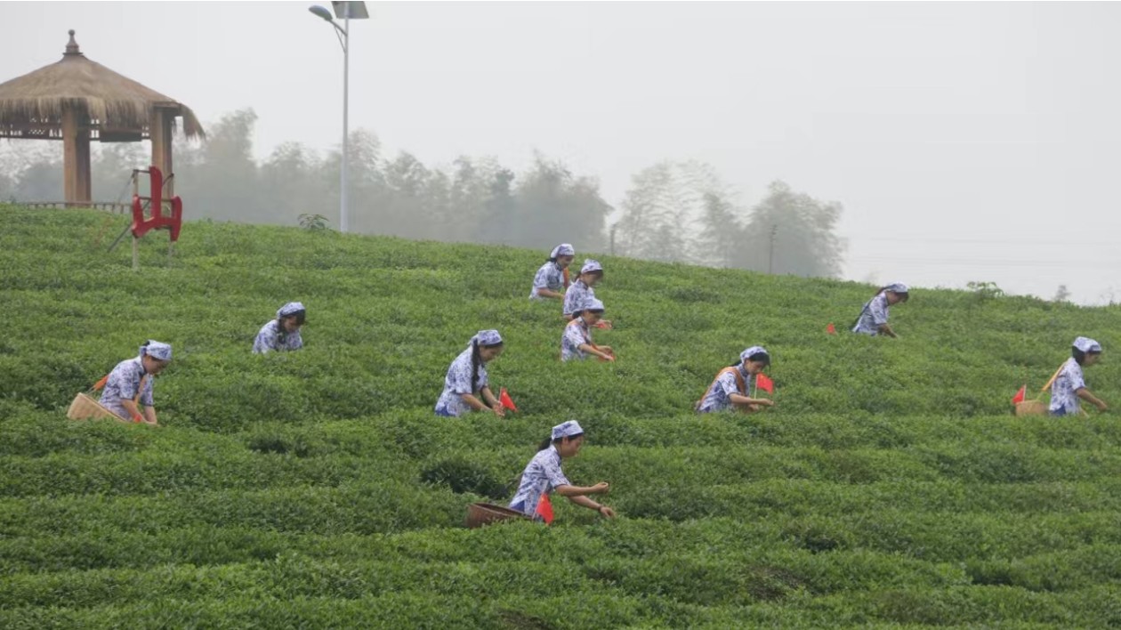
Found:
<path fill-rule="evenodd" d="M 553 427 L 549 437 L 537 447 L 537 454 L 521 473 L 518 492 L 510 500 L 509 509 L 535 520 L 549 522 L 553 520 L 553 509 L 548 495 L 556 492 L 577 506 L 613 518 L 614 510 L 589 498 L 591 494 L 606 494 L 609 485 L 605 481 L 590 487 L 573 485 L 560 470 L 562 461 L 575 457 L 583 444 L 584 429 L 576 420 Z"/>

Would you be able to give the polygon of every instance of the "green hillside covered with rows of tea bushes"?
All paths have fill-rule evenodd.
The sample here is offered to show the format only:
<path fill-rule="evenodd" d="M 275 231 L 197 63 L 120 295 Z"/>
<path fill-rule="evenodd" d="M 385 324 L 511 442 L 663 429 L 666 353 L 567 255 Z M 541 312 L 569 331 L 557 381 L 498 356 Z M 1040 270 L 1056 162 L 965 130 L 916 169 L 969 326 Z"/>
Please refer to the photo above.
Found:
<path fill-rule="evenodd" d="M 1118 307 L 912 288 L 871 339 L 868 285 L 596 256 L 619 361 L 560 364 L 544 251 L 194 222 L 133 272 L 126 223 L 0 206 L 2 628 L 1121 624 L 1119 417 L 1009 413 L 1076 335 L 1121 408 Z M 288 300 L 305 350 L 251 354 Z M 489 327 L 519 411 L 436 417 Z M 161 426 L 67 420 L 146 339 Z M 752 344 L 777 406 L 693 414 Z M 619 518 L 464 529 L 569 418 Z"/>

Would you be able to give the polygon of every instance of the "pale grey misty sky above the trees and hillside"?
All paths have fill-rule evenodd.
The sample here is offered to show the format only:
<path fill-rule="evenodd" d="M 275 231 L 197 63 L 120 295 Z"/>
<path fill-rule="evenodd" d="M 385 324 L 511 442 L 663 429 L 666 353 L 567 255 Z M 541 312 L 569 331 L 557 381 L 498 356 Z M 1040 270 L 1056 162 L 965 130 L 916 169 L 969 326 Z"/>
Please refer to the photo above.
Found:
<path fill-rule="evenodd" d="M 311 3 L 0 2 L 0 82 L 74 28 L 204 124 L 253 108 L 261 158 L 327 149 L 342 52 Z M 350 124 L 387 156 L 520 170 L 536 148 L 617 207 L 642 168 L 698 159 L 745 206 L 773 179 L 841 202 L 846 278 L 1121 300 L 1119 3 L 367 6 Z"/>

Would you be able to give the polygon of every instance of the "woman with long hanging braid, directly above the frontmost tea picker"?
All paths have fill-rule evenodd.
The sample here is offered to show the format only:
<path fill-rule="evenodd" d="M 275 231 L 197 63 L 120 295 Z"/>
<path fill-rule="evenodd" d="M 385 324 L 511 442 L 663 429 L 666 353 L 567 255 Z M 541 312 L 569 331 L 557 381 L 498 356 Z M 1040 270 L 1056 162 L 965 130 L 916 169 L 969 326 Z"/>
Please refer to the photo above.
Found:
<path fill-rule="evenodd" d="M 436 400 L 436 415 L 457 417 L 470 411 L 492 411 L 506 415 L 502 402 L 494 397 L 487 374 L 487 363 L 502 354 L 502 335 L 498 331 L 479 331 L 467 348 L 452 361 L 444 377 L 444 391 Z"/>

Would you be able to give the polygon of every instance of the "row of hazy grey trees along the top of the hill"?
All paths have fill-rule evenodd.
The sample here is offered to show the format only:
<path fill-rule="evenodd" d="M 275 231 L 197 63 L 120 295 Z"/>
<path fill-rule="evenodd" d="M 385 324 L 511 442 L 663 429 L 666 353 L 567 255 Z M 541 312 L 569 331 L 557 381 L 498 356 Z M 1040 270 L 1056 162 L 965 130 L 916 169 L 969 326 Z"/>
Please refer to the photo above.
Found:
<path fill-rule="evenodd" d="M 340 150 L 298 142 L 253 157 L 251 109 L 206 127 L 207 139 L 175 147 L 175 192 L 189 219 L 299 224 L 302 215 L 339 219 Z M 17 146 L 19 145 L 19 146 Z M 61 151 L 10 142 L 0 154 L 0 200 L 57 201 Z M 128 201 L 129 175 L 149 159 L 139 143 L 105 143 L 94 157 L 95 201 Z M 427 166 L 407 151 L 386 156 L 367 130 L 349 138 L 350 229 L 409 239 L 502 243 L 548 250 L 559 241 L 668 262 L 840 277 L 843 207 L 773 182 L 754 206 L 742 206 L 715 169 L 665 160 L 631 178 L 618 207 L 595 177 L 574 174 L 537 154 L 524 172 L 490 157 L 461 156 Z M 614 219 L 611 225 L 609 220 Z"/>

